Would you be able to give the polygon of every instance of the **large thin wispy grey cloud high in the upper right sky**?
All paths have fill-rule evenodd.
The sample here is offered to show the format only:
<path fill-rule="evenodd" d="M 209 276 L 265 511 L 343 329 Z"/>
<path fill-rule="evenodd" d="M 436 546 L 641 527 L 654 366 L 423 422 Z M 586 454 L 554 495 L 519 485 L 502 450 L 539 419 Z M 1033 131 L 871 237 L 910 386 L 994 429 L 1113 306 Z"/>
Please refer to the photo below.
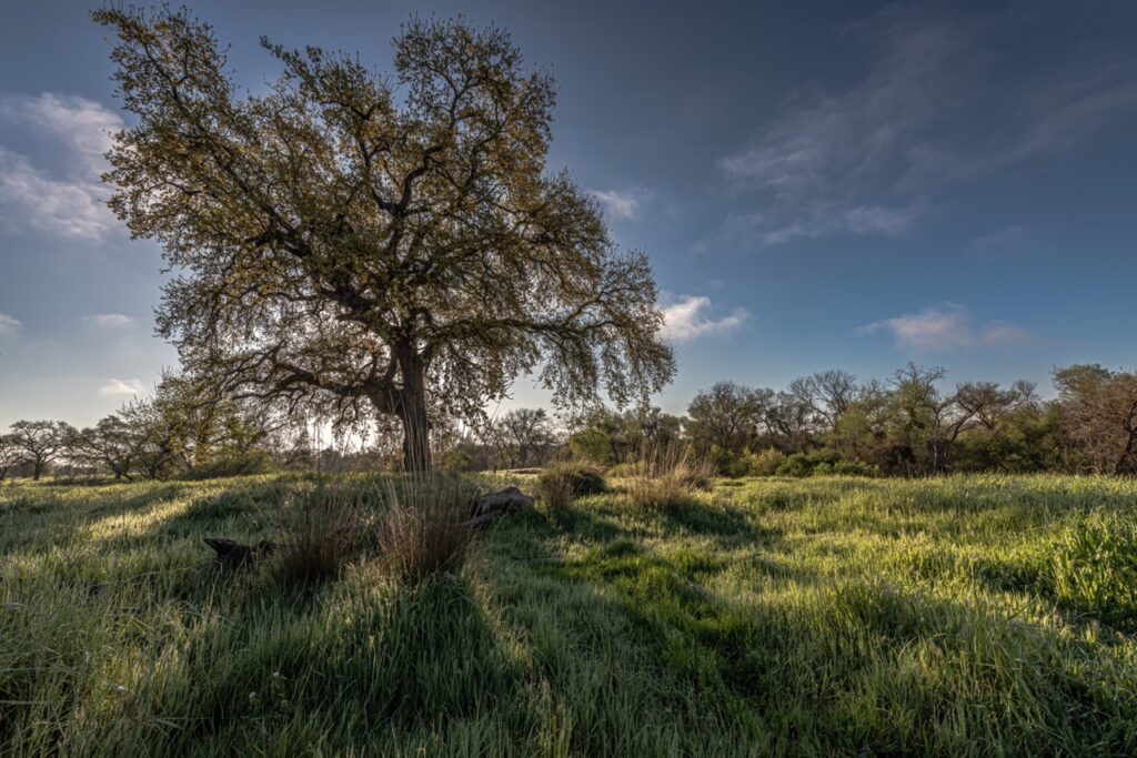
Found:
<path fill-rule="evenodd" d="M 761 208 L 736 213 L 728 233 L 732 226 L 766 245 L 902 235 L 948 184 L 1051 160 L 1137 110 L 1131 57 L 1079 51 L 1061 69 L 1034 66 L 1016 86 L 997 89 L 989 74 L 1014 55 L 1005 39 L 1014 24 L 921 14 L 889 8 L 855 26 L 849 36 L 875 55 L 860 80 L 798 92 L 719 160 Z"/>

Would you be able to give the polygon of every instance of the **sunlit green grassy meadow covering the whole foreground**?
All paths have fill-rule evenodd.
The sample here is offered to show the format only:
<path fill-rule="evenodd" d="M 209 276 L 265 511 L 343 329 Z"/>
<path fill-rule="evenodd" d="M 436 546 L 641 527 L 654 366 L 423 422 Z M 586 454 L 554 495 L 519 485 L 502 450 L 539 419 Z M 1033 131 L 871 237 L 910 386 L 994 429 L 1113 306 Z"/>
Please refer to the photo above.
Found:
<path fill-rule="evenodd" d="M 0 755 L 1137 751 L 1132 481 L 617 491 L 417 588 L 218 575 L 294 485 L 0 489 Z"/>

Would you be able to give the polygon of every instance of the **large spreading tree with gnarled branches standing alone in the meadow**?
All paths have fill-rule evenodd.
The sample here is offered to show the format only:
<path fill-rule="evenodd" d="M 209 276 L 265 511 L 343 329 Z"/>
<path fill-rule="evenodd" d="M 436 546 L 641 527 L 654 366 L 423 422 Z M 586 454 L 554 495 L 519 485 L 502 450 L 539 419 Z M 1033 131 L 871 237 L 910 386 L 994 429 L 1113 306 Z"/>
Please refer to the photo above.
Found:
<path fill-rule="evenodd" d="M 670 380 L 647 258 L 545 173 L 553 80 L 505 32 L 412 20 L 390 77 L 263 42 L 283 74 L 247 95 L 188 11 L 93 17 L 138 116 L 111 208 L 180 272 L 158 327 L 191 374 L 338 424 L 398 417 L 409 468 L 432 402 L 474 418 L 518 373 L 571 405 Z"/>

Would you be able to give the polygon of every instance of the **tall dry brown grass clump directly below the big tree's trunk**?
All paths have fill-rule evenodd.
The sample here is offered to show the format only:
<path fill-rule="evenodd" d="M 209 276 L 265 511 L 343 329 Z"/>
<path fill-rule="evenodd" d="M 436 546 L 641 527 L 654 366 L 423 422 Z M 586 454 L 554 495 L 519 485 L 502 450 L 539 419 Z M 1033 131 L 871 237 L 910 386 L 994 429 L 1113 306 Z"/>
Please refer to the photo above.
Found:
<path fill-rule="evenodd" d="M 380 561 L 392 578 L 417 584 L 465 560 L 473 541 L 470 519 L 475 484 L 453 474 L 392 477 L 377 531 Z"/>

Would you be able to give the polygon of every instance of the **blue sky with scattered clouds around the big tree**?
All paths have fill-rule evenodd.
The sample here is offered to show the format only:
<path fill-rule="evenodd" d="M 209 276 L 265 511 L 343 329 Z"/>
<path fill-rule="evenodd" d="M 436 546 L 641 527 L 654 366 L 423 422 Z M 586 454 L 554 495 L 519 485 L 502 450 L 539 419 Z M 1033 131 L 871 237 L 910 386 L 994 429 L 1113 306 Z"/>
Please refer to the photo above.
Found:
<path fill-rule="evenodd" d="M 238 78 L 287 45 L 379 68 L 412 13 L 508 28 L 559 83 L 551 169 L 652 255 L 681 411 L 908 360 L 949 380 L 1137 365 L 1137 3 L 193 2 Z M 619 7 L 614 7 L 619 6 Z M 111 97 L 81 2 L 0 28 L 0 427 L 150 386 L 163 281 L 97 177 Z M 512 405 L 541 402 L 521 378 Z"/>

